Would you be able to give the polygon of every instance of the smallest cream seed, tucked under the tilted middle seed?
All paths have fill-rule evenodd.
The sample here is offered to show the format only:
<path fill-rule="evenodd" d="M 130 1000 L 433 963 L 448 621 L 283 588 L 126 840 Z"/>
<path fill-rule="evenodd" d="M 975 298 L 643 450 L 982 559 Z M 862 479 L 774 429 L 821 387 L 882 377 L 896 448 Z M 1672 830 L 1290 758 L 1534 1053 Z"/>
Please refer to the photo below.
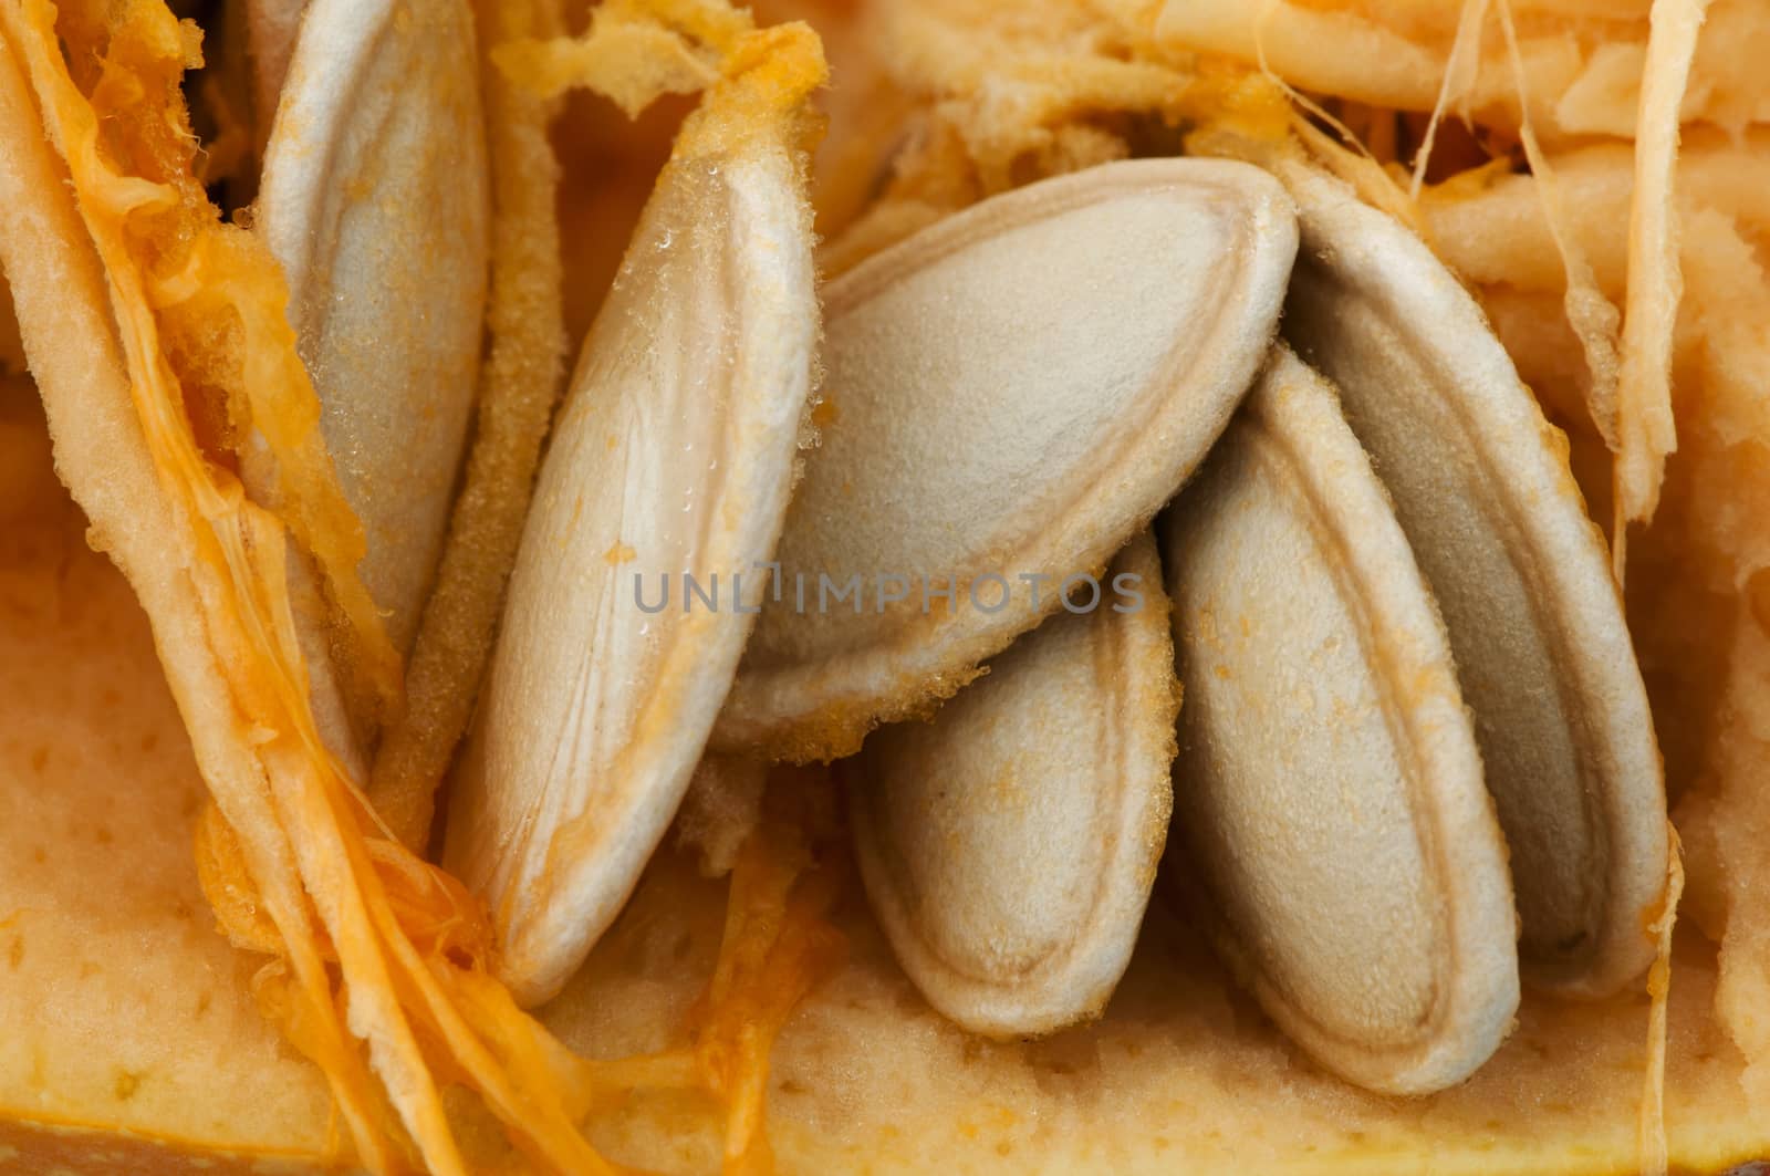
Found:
<path fill-rule="evenodd" d="M 974 1033 L 1097 1017 L 1143 921 L 1181 703 L 1147 531 L 1110 581 L 1138 599 L 1110 590 L 1089 613 L 1051 616 L 933 721 L 874 731 L 843 769 L 860 877 L 897 962 Z"/>

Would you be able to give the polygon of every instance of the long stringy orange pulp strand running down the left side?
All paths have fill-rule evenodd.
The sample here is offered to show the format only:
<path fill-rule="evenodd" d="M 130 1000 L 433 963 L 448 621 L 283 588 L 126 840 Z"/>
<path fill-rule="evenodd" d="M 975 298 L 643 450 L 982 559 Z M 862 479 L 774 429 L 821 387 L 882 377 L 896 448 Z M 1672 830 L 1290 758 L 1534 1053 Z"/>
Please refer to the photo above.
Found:
<path fill-rule="evenodd" d="M 219 225 L 189 177 L 177 78 L 195 60 L 195 39 L 150 0 L 74 9 L 60 21 L 44 0 L 25 0 L 14 16 L 9 34 L 28 64 L 104 266 L 143 441 L 175 514 L 189 526 L 216 664 L 237 707 L 241 737 L 269 785 L 258 793 L 227 788 L 218 797 L 232 808 L 227 816 L 234 825 L 280 827 L 283 850 L 299 870 L 297 886 L 289 878 L 241 877 L 248 863 L 264 861 L 260 843 L 237 855 L 211 854 L 204 868 L 211 893 L 223 898 L 219 914 L 234 916 L 230 930 L 242 942 L 271 946 L 266 939 L 274 925 L 289 983 L 266 974 L 260 995 L 280 1011 L 290 1040 L 326 1070 L 368 1167 L 393 1171 L 405 1148 L 391 1135 L 352 1038 L 368 1041 L 370 1064 L 432 1171 L 464 1167 L 421 1041 L 442 1043 L 519 1146 L 556 1171 L 595 1171 L 595 1153 L 559 1110 L 545 1075 L 501 1068 L 458 1011 L 451 988 L 471 981 L 458 981 L 455 972 L 483 969 L 490 955 L 483 914 L 458 884 L 400 855 L 404 850 L 381 832 L 315 728 L 287 590 L 287 535 L 290 528 L 299 533 L 296 521 L 315 524 L 327 517 L 326 510 L 349 519 L 349 510 L 335 489 L 304 496 L 312 487 L 294 489 L 299 480 L 287 478 L 303 469 L 306 453 L 319 462 L 308 471 L 317 468 L 329 480 L 317 439 L 317 404 L 281 317 L 274 266 L 241 230 Z M 69 60 L 96 62 L 85 71 L 94 74 L 90 92 L 80 89 Z M 113 108 L 120 112 L 115 119 Z M 138 133 L 131 135 L 131 128 Z M 126 149 L 106 149 L 106 138 Z M 184 338 L 191 347 L 181 358 L 202 368 L 200 379 L 227 388 L 230 414 L 250 414 L 278 453 L 289 492 L 276 503 L 251 501 L 196 443 L 184 413 L 182 374 L 163 345 L 165 317 L 191 303 L 239 317 L 239 354 L 205 354 L 204 335 L 191 331 Z M 326 510 L 312 510 L 315 498 Z M 359 551 L 361 537 L 352 535 L 345 545 Z M 313 549 L 324 565 L 326 542 Z M 333 583 L 338 588 L 356 581 L 352 574 Z M 349 597 L 350 590 L 338 595 Z M 359 604 L 373 618 L 366 595 Z M 218 845 L 214 824 L 205 839 L 211 848 Z M 377 839 L 386 850 L 370 852 Z M 266 893 L 262 901 L 253 898 Z M 260 907 L 269 923 L 257 916 Z M 241 917 L 248 910 L 251 917 Z M 418 944 L 442 958 L 427 960 Z M 327 955 L 343 978 L 342 1010 L 322 963 Z M 520 1029 L 490 1025 L 487 1036 L 506 1033 Z"/>

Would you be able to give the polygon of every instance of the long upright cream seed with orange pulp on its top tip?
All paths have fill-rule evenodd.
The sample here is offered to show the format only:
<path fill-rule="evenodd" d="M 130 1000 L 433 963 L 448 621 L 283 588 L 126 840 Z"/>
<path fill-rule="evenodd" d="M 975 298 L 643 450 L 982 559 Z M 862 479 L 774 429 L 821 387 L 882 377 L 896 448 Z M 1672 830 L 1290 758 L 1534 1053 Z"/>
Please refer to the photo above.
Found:
<path fill-rule="evenodd" d="M 685 149 L 708 140 L 678 138 L 584 342 L 451 801 L 446 859 L 524 1002 L 565 985 L 676 813 L 786 515 L 809 213 L 789 151 Z"/>

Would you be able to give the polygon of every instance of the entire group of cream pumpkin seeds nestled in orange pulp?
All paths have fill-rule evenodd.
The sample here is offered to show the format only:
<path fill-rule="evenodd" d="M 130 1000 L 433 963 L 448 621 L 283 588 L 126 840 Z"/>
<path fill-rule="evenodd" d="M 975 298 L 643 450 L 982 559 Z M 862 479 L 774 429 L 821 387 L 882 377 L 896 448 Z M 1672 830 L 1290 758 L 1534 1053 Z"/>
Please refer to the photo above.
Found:
<path fill-rule="evenodd" d="M 260 223 L 409 648 L 489 248 L 458 181 L 483 166 L 423 147 L 478 113 L 442 94 L 412 143 L 312 152 L 336 104 L 310 97 Z M 331 200 L 356 172 L 373 198 Z M 843 760 L 897 958 L 986 1034 L 1106 1006 L 1163 854 L 1280 1027 L 1379 1091 L 1490 1056 L 1520 960 L 1602 995 L 1653 955 L 1658 756 L 1559 437 L 1432 253 L 1301 163 L 1096 166 L 820 290 L 788 136 L 685 131 L 554 423 L 457 772 L 444 861 L 520 999 L 616 917 L 708 749 Z"/>

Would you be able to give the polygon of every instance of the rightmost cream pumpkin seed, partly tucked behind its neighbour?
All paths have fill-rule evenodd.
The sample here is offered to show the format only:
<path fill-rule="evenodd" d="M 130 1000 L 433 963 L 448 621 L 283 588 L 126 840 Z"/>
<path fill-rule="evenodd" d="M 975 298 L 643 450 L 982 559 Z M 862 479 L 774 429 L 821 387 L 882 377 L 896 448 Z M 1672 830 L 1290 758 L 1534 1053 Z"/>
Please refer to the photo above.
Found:
<path fill-rule="evenodd" d="M 1338 181 L 1303 209 L 1285 335 L 1340 386 L 1450 629 L 1512 847 L 1526 976 L 1605 995 L 1653 960 L 1666 792 L 1604 538 L 1474 299 Z"/>

